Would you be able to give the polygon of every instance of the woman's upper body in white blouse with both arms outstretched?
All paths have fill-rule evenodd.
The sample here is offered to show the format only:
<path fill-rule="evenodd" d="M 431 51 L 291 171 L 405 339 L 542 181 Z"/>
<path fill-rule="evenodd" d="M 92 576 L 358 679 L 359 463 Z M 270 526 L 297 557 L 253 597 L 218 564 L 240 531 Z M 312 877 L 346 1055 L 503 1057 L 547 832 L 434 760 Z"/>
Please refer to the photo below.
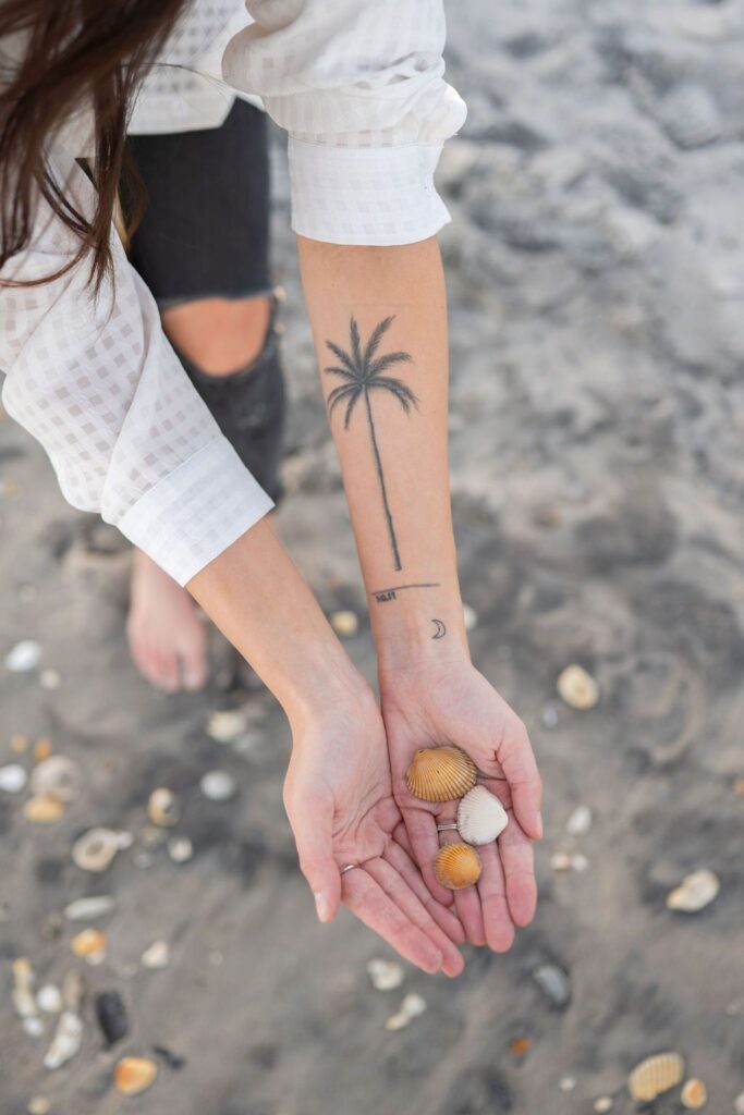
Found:
<path fill-rule="evenodd" d="M 187 588 L 283 706 L 284 799 L 320 920 L 342 899 L 414 963 L 456 975 L 464 939 L 503 951 L 531 920 L 541 835 L 526 731 L 470 662 L 452 532 L 435 240 L 448 217 L 432 176 L 464 107 L 443 80 L 434 0 L 247 8 L 254 22 L 238 28 L 232 0 L 0 4 L 3 403 L 70 503 Z M 112 229 L 143 76 L 167 85 L 173 71 L 155 60 L 210 72 L 210 54 L 232 90 L 260 96 L 289 132 L 292 227 L 370 600 L 379 707 Z M 219 126 L 224 90 L 195 72 L 178 80 L 178 125 Z M 163 89 L 149 93 L 157 114 Z M 75 161 L 91 154 L 95 186 Z M 432 871 L 455 803 L 419 802 L 405 784 L 415 749 L 445 743 L 472 755 L 510 812 L 477 886 L 457 892 L 457 917 Z"/>

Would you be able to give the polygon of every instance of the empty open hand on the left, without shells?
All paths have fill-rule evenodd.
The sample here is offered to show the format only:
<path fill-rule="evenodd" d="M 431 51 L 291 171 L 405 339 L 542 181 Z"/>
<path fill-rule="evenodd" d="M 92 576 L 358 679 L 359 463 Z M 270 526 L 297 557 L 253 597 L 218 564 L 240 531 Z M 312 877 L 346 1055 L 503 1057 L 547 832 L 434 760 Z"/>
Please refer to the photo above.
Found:
<path fill-rule="evenodd" d="M 284 805 L 318 917 L 330 921 L 344 901 L 406 960 L 427 972 L 457 976 L 462 927 L 395 838 L 396 828 L 402 833 L 404 827 L 374 695 L 365 685 L 359 692 L 325 696 L 323 712 L 292 723 L 284 783 Z M 358 866 L 341 875 L 351 863 Z"/>

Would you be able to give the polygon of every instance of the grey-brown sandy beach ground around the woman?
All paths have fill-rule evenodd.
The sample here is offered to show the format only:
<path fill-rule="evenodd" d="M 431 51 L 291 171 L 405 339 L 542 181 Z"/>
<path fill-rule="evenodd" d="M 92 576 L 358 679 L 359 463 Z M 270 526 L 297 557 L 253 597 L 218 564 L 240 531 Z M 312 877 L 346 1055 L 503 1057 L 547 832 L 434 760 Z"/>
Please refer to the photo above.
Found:
<path fill-rule="evenodd" d="M 26 815 L 29 785 L 0 789 L 0 1115 L 32 1097 L 50 1115 L 582 1115 L 602 1098 L 626 1115 L 629 1072 L 663 1050 L 712 1115 L 744 1112 L 744 7 L 462 0 L 448 19 L 470 108 L 438 173 L 454 515 L 473 657 L 545 786 L 537 919 L 506 956 L 467 951 L 456 981 L 404 964 L 375 989 L 367 963 L 393 953 L 346 911 L 319 925 L 299 873 L 281 710 L 216 633 L 205 692 L 145 685 L 126 546 L 3 418 L 0 767 L 66 756 L 77 780 L 51 823 Z M 326 611 L 358 614 L 347 647 L 371 678 L 283 148 L 279 522 Z M 558 695 L 571 663 L 598 682 L 591 710 Z M 231 776 L 225 799 L 209 772 Z M 171 827 L 148 820 L 157 787 L 177 797 Z M 99 825 L 131 840 L 91 873 L 71 850 Z M 703 869 L 713 901 L 668 909 Z M 89 895 L 112 910 L 70 920 Z M 97 963 L 71 949 L 87 928 Z M 144 966 L 158 941 L 164 963 Z M 81 1046 L 58 1069 L 59 1016 L 35 1036 L 13 1005 L 18 958 L 36 990 L 84 981 Z M 127 1032 L 106 1048 L 110 991 Z M 409 993 L 425 1009 L 386 1029 Z M 127 1055 L 158 1066 L 134 1098 L 112 1083 Z M 679 1087 L 653 1108 L 682 1109 Z"/>

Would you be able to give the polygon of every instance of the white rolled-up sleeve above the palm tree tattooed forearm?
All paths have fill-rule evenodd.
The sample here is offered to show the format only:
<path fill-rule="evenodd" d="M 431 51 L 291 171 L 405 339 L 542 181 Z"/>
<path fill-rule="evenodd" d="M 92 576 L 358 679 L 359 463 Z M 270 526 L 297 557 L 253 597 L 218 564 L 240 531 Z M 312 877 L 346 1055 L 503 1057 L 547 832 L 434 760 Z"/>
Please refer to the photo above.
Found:
<path fill-rule="evenodd" d="M 223 75 L 289 133 L 292 229 L 406 244 L 450 215 L 434 186 L 465 105 L 444 79 L 441 0 L 248 0 Z"/>

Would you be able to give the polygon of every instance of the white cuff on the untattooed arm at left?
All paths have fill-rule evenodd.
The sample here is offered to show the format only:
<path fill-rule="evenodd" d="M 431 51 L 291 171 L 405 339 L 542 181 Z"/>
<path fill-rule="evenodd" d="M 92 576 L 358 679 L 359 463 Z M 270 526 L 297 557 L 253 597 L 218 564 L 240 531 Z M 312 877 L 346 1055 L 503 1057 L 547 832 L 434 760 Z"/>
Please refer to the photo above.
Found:
<path fill-rule="evenodd" d="M 220 437 L 160 481 L 115 525 L 184 585 L 272 507 Z"/>

